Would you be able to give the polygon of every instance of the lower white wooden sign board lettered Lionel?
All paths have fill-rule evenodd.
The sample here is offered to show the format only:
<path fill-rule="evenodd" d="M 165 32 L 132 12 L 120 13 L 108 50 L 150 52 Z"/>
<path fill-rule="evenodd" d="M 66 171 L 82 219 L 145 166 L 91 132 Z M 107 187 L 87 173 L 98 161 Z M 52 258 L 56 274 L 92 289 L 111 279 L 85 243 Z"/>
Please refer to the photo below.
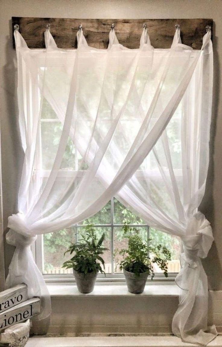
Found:
<path fill-rule="evenodd" d="M 24 301 L 16 307 L 9 308 L 0 313 L 0 331 L 12 327 L 17 323 L 26 321 L 28 318 L 40 313 L 40 299 L 33 298 Z"/>

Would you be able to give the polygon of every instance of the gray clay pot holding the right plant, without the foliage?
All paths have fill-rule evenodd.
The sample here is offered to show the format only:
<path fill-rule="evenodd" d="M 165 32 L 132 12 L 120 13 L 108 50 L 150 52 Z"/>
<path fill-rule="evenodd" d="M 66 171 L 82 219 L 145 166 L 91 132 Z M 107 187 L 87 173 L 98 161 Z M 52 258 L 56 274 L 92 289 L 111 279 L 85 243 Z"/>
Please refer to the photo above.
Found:
<path fill-rule="evenodd" d="M 143 293 L 148 273 L 141 273 L 140 276 L 136 276 L 133 272 L 123 270 L 128 291 L 133 294 Z"/>

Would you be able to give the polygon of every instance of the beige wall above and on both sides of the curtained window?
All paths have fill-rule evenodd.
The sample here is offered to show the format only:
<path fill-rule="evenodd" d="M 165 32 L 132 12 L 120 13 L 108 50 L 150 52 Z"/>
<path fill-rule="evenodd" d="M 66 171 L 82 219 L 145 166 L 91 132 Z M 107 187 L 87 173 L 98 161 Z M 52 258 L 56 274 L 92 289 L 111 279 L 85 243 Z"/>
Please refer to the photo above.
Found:
<path fill-rule="evenodd" d="M 17 130 L 16 59 L 12 49 L 11 17 L 70 18 L 213 18 L 214 100 L 210 143 L 210 170 L 202 211 L 213 227 L 215 244 L 204 267 L 211 289 L 222 289 L 222 0 L 0 0 L 1 149 L 3 227 L 16 212 L 22 164 Z M 0 243 L 1 244 L 1 243 Z M 6 271 L 12 247 L 5 245 Z M 0 249 L 0 257 L 2 251 Z"/>

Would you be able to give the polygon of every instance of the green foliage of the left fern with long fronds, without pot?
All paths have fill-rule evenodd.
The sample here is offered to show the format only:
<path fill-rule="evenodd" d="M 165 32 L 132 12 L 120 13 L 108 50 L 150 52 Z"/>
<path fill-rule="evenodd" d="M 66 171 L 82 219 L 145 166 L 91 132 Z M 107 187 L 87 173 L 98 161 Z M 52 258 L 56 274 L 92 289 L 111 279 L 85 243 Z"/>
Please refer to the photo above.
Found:
<path fill-rule="evenodd" d="M 90 224 L 85 227 L 85 234 L 79 233 L 81 239 L 79 242 L 71 243 L 67 251 L 74 255 L 70 260 L 63 263 L 62 267 L 66 269 L 73 268 L 75 271 L 83 274 L 97 273 L 100 271 L 105 274 L 101 264 L 105 269 L 105 263 L 101 255 L 108 249 L 103 247 L 105 232 L 97 239 L 94 225 Z"/>

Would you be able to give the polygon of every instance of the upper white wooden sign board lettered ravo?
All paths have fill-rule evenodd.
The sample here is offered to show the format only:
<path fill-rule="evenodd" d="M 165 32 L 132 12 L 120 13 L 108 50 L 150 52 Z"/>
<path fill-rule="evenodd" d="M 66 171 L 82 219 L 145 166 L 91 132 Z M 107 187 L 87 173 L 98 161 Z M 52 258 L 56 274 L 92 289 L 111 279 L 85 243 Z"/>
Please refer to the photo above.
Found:
<path fill-rule="evenodd" d="M 0 293 L 0 314 L 28 299 L 27 285 L 19 284 Z"/>

